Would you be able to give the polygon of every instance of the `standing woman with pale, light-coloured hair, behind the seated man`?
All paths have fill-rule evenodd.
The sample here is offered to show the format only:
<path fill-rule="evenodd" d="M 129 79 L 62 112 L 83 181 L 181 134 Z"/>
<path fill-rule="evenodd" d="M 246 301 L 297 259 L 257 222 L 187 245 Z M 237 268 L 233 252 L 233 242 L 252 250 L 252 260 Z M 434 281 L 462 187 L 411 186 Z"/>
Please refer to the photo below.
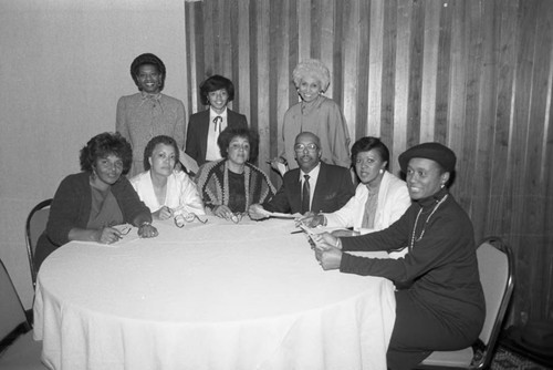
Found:
<path fill-rule="evenodd" d="M 272 161 L 296 168 L 294 161 L 295 136 L 312 132 L 321 138 L 321 161 L 349 167 L 349 133 L 342 110 L 332 99 L 324 96 L 331 83 L 326 65 L 315 59 L 302 61 L 293 71 L 293 81 L 301 101 L 284 114 L 280 157 Z"/>

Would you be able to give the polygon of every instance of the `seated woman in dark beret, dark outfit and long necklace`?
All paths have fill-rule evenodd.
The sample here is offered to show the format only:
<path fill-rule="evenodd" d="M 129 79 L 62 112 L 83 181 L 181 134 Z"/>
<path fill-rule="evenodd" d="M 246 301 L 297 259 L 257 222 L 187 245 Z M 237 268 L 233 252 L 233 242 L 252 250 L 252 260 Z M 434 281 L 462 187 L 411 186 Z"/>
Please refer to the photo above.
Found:
<path fill-rule="evenodd" d="M 316 238 L 324 269 L 379 276 L 398 288 L 389 369 L 413 369 L 435 350 L 469 347 L 486 316 L 472 224 L 448 192 L 456 156 L 439 143 L 414 146 L 399 156 L 413 205 L 390 227 L 355 237 Z M 353 250 L 408 248 L 399 259 L 356 257 Z"/>

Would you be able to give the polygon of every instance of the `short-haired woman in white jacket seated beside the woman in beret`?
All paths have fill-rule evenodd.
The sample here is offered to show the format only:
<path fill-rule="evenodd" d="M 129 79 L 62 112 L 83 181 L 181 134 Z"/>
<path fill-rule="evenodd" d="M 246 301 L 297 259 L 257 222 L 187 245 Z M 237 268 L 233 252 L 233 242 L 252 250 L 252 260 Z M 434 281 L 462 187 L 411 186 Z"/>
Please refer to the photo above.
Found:
<path fill-rule="evenodd" d="M 352 236 L 382 230 L 394 224 L 411 205 L 404 181 L 388 172 L 389 151 L 384 143 L 372 136 L 362 137 L 352 146 L 352 163 L 361 179 L 355 195 L 345 206 L 333 213 L 322 213 L 302 219 L 310 227 L 353 227 Z M 393 253 L 397 258 L 405 255 Z"/>

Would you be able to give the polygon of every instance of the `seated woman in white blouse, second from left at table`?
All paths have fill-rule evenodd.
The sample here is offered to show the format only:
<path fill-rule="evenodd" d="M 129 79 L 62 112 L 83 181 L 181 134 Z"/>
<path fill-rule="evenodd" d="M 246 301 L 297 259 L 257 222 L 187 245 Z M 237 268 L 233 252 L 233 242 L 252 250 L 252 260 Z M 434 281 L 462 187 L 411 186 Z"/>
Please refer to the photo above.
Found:
<path fill-rule="evenodd" d="M 175 171 L 178 160 L 177 142 L 166 135 L 156 136 L 144 150 L 146 172 L 131 178 L 131 184 L 154 218 L 167 219 L 177 214 L 206 214 L 196 184 L 186 173 Z"/>

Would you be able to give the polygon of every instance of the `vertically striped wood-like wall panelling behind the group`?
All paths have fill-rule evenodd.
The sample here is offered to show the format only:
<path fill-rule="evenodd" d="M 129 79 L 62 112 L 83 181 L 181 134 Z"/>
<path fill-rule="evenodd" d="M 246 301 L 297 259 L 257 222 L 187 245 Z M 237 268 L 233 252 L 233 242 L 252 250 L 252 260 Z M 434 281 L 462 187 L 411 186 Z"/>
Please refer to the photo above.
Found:
<path fill-rule="evenodd" d="M 194 96 L 201 79 L 230 76 L 269 171 L 298 102 L 292 70 L 321 59 L 352 143 L 382 137 L 394 173 L 397 156 L 420 142 L 457 153 L 451 192 L 476 238 L 498 235 L 515 250 L 511 319 L 553 318 L 543 294 L 553 290 L 553 2 L 205 0 L 185 10 L 190 111 L 205 109 Z"/>

